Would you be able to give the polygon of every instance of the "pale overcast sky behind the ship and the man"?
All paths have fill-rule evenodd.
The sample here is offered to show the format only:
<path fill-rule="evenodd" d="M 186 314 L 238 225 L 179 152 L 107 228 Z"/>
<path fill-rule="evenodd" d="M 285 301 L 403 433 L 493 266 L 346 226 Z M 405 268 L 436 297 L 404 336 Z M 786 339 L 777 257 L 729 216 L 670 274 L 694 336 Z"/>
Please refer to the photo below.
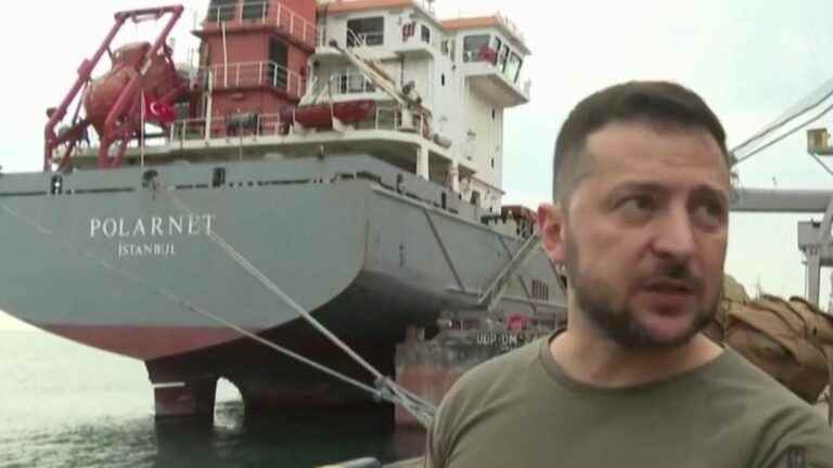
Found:
<path fill-rule="evenodd" d="M 189 12 L 180 35 L 193 26 L 194 12 L 204 11 L 206 3 L 185 2 Z M 13 2 L 5 8 L 0 28 L 4 171 L 39 169 L 46 108 L 57 105 L 68 90 L 81 60 L 93 53 L 113 24 L 115 10 L 152 4 L 76 0 Z M 743 141 L 833 77 L 829 6 L 828 0 L 436 2 L 440 17 L 500 10 L 517 24 L 533 50 L 525 65 L 533 100 L 508 114 L 504 146 L 507 200 L 530 207 L 549 197 L 550 157 L 564 116 L 578 100 L 607 84 L 629 79 L 681 82 L 720 116 L 730 144 Z M 129 40 L 140 39 L 140 29 L 132 25 L 125 32 Z M 802 132 L 742 165 L 743 185 L 833 186 L 805 147 Z M 733 216 L 727 271 L 753 290 L 759 284 L 774 294 L 804 294 L 795 223 L 806 218 Z M 830 281 L 825 276 L 822 282 L 826 302 Z M 0 316 L 0 327 L 9 326 L 14 322 Z"/>

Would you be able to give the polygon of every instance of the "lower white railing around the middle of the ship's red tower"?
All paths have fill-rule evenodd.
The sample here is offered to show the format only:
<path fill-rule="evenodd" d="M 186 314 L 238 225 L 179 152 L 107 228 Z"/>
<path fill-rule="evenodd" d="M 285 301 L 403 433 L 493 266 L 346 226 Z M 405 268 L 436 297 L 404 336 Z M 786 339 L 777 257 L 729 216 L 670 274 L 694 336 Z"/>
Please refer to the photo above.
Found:
<path fill-rule="evenodd" d="M 299 74 L 269 61 L 202 67 L 196 80 L 196 84 L 204 90 L 270 87 L 283 90 L 293 98 L 300 98 L 305 91 L 305 80 Z"/>

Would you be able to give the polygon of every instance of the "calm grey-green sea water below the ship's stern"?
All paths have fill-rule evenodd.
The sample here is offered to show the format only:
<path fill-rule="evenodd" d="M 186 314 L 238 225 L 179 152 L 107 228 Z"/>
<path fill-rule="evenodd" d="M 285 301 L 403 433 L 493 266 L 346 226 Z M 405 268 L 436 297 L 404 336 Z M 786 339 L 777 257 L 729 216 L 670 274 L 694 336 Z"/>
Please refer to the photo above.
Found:
<path fill-rule="evenodd" d="M 419 432 L 349 414 L 245 418 L 220 381 L 212 427 L 155 425 L 141 362 L 39 332 L 0 330 L 0 467 L 316 467 L 422 453 Z"/>

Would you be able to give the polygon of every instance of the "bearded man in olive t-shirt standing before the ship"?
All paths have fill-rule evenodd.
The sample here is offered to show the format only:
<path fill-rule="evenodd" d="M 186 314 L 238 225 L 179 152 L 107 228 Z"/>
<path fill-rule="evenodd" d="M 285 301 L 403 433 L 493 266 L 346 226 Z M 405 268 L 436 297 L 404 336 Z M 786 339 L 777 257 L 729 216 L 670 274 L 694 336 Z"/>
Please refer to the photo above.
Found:
<path fill-rule="evenodd" d="M 701 330 L 721 295 L 730 164 L 694 92 L 627 82 L 581 101 L 555 144 L 543 247 L 566 265 L 567 326 L 449 391 L 443 468 L 833 468 L 833 432 Z"/>

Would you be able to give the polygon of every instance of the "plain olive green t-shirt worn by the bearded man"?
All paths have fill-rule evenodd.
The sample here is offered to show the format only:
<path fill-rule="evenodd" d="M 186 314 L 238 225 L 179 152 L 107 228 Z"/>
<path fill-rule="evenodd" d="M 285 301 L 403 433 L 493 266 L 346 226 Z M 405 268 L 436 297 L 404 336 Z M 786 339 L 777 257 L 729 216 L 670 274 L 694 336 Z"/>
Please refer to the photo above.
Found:
<path fill-rule="evenodd" d="M 452 387 L 428 434 L 428 467 L 786 468 L 797 450 L 807 466 L 833 468 L 824 418 L 731 349 L 668 379 L 604 389 L 568 378 L 548 344 L 486 362 Z"/>

